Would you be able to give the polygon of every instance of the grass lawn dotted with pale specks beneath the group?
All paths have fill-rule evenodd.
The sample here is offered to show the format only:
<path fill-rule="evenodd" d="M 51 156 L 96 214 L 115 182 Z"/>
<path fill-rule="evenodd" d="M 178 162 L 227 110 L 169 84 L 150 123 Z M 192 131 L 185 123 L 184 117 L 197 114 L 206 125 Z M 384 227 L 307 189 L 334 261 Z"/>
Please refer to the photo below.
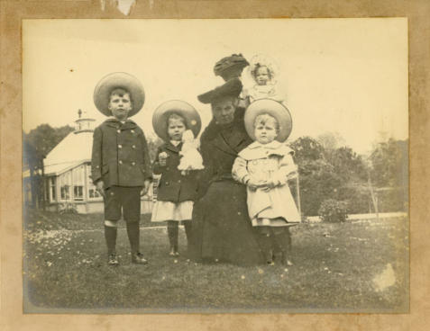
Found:
<path fill-rule="evenodd" d="M 183 230 L 182 255 L 171 258 L 165 228 L 142 229 L 150 264 L 131 264 L 124 227 L 117 240 L 121 265 L 109 267 L 102 219 L 26 213 L 26 312 L 408 310 L 404 218 L 301 224 L 292 229 L 295 265 L 288 269 L 195 264 L 187 259 Z M 149 225 L 147 215 L 142 223 Z"/>

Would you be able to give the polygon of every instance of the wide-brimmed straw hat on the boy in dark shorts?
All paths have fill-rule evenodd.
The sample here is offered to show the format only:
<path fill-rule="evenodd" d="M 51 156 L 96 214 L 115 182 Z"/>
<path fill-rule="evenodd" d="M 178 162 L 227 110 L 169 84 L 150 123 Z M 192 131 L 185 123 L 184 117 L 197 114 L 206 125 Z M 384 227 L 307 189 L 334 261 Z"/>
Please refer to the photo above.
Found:
<path fill-rule="evenodd" d="M 133 109 L 128 113 L 128 117 L 132 117 L 142 109 L 143 103 L 145 103 L 145 92 L 141 82 L 135 76 L 127 73 L 116 72 L 100 79 L 94 89 L 94 103 L 97 109 L 106 116 L 112 115 L 107 106 L 112 91 L 117 88 L 123 88 L 130 94 Z"/>

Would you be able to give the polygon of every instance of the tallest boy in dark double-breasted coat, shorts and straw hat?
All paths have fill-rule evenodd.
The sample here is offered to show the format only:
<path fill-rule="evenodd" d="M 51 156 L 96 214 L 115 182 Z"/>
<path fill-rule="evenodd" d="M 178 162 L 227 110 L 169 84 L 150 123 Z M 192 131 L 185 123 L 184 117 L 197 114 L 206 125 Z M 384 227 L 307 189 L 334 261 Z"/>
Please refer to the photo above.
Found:
<path fill-rule="evenodd" d="M 134 264 L 147 264 L 139 251 L 141 195 L 151 183 L 148 146 L 139 126 L 128 118 L 142 109 L 139 81 L 125 73 L 105 76 L 94 92 L 97 109 L 113 116 L 94 131 L 92 180 L 105 202 L 105 240 L 108 264 L 119 264 L 115 253 L 117 223 L 123 214 Z"/>

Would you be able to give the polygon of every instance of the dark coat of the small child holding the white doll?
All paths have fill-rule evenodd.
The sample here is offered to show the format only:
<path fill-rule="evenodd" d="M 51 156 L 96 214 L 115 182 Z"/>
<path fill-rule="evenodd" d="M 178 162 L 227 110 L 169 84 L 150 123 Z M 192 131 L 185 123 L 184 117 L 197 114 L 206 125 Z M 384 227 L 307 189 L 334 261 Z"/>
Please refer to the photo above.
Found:
<path fill-rule="evenodd" d="M 178 170 L 179 151 L 182 143 L 174 146 L 171 143 L 164 143 L 157 152 L 157 157 L 153 165 L 153 173 L 161 174 L 157 200 L 159 201 L 195 201 L 197 195 L 197 172 L 191 171 L 189 174 L 182 175 Z M 166 165 L 159 163 L 160 153 L 168 155 Z"/>

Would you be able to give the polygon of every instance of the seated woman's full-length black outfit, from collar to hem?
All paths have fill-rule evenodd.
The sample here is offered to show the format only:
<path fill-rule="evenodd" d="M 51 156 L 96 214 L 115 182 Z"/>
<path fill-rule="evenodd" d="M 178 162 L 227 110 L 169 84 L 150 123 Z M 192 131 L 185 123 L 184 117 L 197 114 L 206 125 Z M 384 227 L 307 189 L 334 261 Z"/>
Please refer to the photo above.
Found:
<path fill-rule="evenodd" d="M 246 205 L 246 187 L 232 178 L 237 154 L 252 140 L 243 125 L 243 109 L 236 110 L 232 124 L 211 122 L 202 134 L 205 171 L 199 180 L 200 199 L 193 209 L 192 240 L 188 253 L 196 261 L 262 264 Z"/>

